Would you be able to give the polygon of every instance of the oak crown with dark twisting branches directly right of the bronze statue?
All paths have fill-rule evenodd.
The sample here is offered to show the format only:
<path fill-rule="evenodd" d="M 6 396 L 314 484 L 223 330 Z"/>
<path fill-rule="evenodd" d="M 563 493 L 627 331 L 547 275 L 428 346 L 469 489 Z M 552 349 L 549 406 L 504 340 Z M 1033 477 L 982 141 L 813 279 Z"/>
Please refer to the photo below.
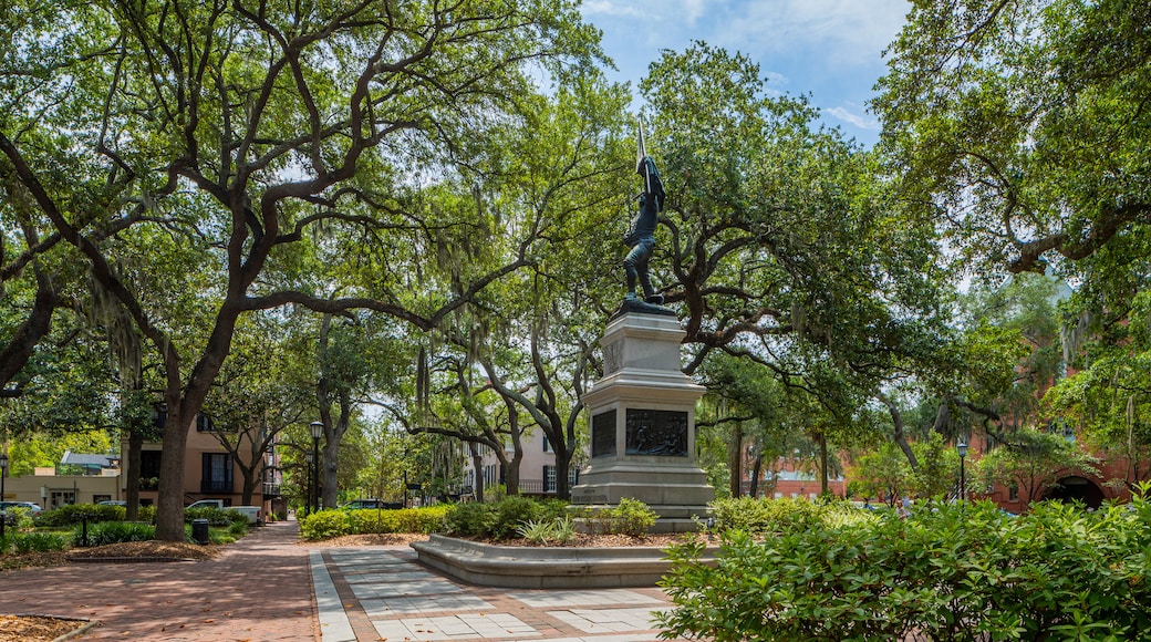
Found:
<path fill-rule="evenodd" d="M 818 408 L 794 426 L 847 443 L 946 343 L 933 223 L 897 216 L 877 158 L 768 92 L 746 56 L 696 44 L 640 87 L 669 194 L 653 266 L 686 313 L 685 372 L 754 360 Z"/>

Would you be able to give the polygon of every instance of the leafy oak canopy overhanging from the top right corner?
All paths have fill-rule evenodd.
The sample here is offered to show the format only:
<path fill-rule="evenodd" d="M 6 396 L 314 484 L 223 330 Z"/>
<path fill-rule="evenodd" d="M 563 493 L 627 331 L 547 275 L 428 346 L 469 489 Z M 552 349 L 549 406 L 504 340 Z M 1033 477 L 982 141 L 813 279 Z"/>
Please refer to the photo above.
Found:
<path fill-rule="evenodd" d="M 916 2 L 875 101 L 907 200 L 1011 272 L 1144 263 L 1149 20 L 1134 0 Z"/>

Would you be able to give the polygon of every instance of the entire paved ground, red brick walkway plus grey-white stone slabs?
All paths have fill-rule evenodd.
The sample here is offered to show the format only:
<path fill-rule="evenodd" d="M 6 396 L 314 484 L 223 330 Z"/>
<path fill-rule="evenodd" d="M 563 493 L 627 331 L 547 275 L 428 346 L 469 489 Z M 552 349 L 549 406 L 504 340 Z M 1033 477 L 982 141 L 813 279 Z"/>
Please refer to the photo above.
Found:
<path fill-rule="evenodd" d="M 525 590 L 451 580 L 409 547 L 321 548 L 295 521 L 218 559 L 0 573 L 0 613 L 99 620 L 78 640 L 647 642 L 656 588 Z"/>

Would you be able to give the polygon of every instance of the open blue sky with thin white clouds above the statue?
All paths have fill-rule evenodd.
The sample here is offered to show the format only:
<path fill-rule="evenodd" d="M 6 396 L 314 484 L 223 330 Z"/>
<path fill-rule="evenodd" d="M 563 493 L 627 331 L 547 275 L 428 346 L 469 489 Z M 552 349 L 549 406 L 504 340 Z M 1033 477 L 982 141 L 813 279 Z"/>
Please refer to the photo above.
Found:
<path fill-rule="evenodd" d="M 750 56 L 770 90 L 808 94 L 823 122 L 867 146 L 879 133 L 867 101 L 886 69 L 883 49 L 909 9 L 907 0 L 584 0 L 582 6 L 619 68 L 609 77 L 631 82 L 637 95 L 662 49 L 703 40 Z"/>

